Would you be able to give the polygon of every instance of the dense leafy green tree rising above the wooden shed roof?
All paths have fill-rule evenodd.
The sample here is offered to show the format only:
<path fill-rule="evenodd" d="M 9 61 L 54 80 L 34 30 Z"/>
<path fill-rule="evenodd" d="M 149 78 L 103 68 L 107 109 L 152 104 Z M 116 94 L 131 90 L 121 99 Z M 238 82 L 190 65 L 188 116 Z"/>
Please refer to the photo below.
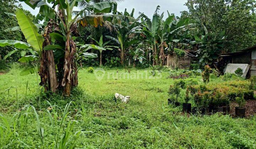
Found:
<path fill-rule="evenodd" d="M 221 53 L 238 51 L 256 44 L 255 0 L 188 0 L 187 16 L 201 32 L 226 32 Z"/>

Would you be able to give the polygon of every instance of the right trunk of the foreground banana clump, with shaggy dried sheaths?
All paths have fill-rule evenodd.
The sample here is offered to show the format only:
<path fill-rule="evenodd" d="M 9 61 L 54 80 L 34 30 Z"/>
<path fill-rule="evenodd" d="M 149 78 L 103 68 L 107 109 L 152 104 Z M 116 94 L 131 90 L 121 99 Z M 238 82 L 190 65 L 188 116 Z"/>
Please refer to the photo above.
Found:
<path fill-rule="evenodd" d="M 78 85 L 78 71 L 75 63 L 76 44 L 71 38 L 71 33 L 68 31 L 66 35 L 65 60 L 64 60 L 64 76 L 62 86 L 64 87 L 63 94 L 69 96 L 73 86 Z"/>

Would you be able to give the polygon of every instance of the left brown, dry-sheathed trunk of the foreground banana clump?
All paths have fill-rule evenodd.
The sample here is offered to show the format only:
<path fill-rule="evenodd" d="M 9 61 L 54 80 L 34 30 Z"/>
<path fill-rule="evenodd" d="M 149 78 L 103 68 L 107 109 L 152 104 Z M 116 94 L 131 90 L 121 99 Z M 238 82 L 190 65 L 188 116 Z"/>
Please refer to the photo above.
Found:
<path fill-rule="evenodd" d="M 44 42 L 43 48 L 50 45 L 50 33 L 52 32 L 53 20 L 50 20 L 44 29 Z M 53 51 L 47 50 L 42 51 L 42 56 L 40 60 L 40 70 L 39 76 L 41 77 L 40 85 L 44 86 L 45 92 L 51 90 L 53 93 L 57 91 L 58 80 L 55 69 L 55 62 L 53 57 Z"/>

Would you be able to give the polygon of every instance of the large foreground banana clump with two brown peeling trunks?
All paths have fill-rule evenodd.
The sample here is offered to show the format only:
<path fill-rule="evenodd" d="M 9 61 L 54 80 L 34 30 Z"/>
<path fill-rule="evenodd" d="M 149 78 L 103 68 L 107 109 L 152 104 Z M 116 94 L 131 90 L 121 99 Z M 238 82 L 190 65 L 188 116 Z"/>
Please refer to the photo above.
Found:
<path fill-rule="evenodd" d="M 53 6 L 49 6 L 44 0 L 20 0 L 31 6 L 33 9 L 40 7 L 38 18 L 44 19 L 48 24 L 44 28 L 44 36 L 40 37 L 39 55 L 41 56 L 41 65 L 39 75 L 41 76 L 41 85 L 51 88 L 52 92 L 56 89 L 63 88 L 63 94 L 69 96 L 71 88 L 78 84 L 77 66 L 76 66 L 76 43 L 74 36 L 77 35 L 77 18 L 84 11 L 109 13 L 116 11 L 116 2 L 100 2 L 86 6 L 76 16 L 72 16 L 73 8 L 81 0 L 48 0 Z M 86 0 L 89 2 L 90 0 Z M 58 6 L 58 10 L 56 10 Z M 90 17 L 94 20 L 94 17 Z M 92 22 L 88 22 L 91 24 Z M 25 24 L 27 25 L 27 23 Z M 22 28 L 21 28 L 22 30 Z M 23 31 L 22 31 L 23 32 Z M 57 38 L 53 38 L 55 33 Z M 24 34 L 25 35 L 25 34 Z M 25 35 L 26 37 L 26 35 Z M 63 38 L 58 38 L 63 37 Z M 37 38 L 36 38 L 37 39 Z M 54 40 L 58 42 L 54 43 Z M 53 50 L 59 49 L 60 58 L 58 60 L 56 75 Z M 62 53 L 62 54 L 61 54 Z M 53 67 L 54 66 L 54 67 Z M 52 76 L 50 76 L 52 75 Z M 58 79 L 57 79 L 58 77 Z M 47 87 L 48 86 L 48 87 Z M 52 89 L 52 88 L 55 88 Z"/>

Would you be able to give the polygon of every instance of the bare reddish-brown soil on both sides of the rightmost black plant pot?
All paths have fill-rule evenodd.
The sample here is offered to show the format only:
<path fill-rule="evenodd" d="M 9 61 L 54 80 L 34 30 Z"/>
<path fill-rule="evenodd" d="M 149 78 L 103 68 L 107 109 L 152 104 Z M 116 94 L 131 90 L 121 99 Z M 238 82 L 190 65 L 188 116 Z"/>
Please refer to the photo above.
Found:
<path fill-rule="evenodd" d="M 232 102 L 230 104 L 230 114 L 235 116 L 235 107 L 237 103 Z M 245 116 L 249 117 L 256 114 L 256 100 L 247 100 L 245 104 Z"/>

